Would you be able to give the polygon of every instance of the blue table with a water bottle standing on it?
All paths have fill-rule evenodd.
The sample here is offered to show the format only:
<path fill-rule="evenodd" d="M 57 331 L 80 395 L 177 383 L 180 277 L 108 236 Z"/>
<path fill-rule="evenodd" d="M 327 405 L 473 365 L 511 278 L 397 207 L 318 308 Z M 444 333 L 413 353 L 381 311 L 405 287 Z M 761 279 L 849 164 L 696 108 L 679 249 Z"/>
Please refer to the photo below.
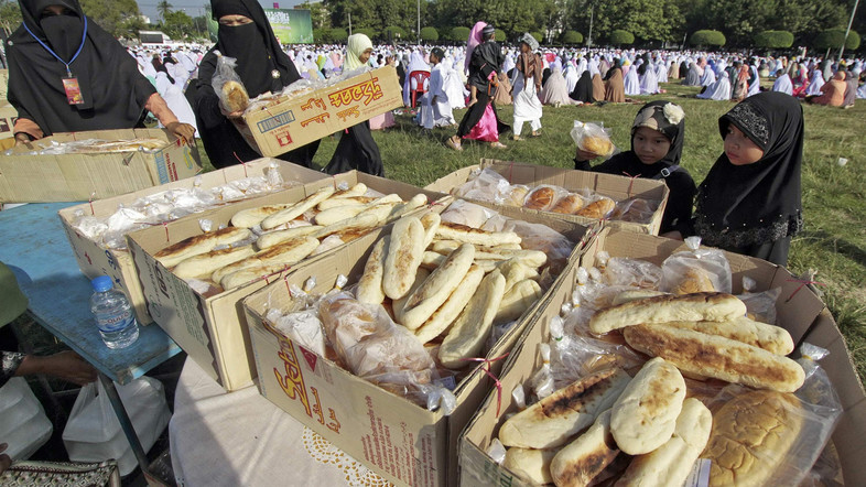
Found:
<path fill-rule="evenodd" d="M 99 337 L 90 314 L 90 281 L 82 274 L 57 212 L 77 203 L 33 203 L 0 212 L 0 261 L 9 266 L 33 318 L 99 370 L 123 432 L 149 475 L 147 456 L 112 381 L 128 383 L 181 347 L 155 324 L 139 327 L 139 339 L 112 350 Z"/>

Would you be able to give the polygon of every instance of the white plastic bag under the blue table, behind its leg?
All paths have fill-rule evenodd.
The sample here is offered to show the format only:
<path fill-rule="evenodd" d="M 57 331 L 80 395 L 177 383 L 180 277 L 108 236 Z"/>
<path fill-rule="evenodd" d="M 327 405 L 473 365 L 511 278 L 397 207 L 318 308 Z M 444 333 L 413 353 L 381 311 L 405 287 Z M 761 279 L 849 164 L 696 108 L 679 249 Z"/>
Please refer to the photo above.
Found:
<path fill-rule="evenodd" d="M 169 424 L 171 411 L 162 382 L 141 377 L 116 385 L 136 434 L 144 452 L 156 442 Z M 111 401 L 100 381 L 84 386 L 75 400 L 69 420 L 63 430 L 63 443 L 73 462 L 117 459 L 120 475 L 128 475 L 138 465 L 132 447 L 120 428 Z"/>

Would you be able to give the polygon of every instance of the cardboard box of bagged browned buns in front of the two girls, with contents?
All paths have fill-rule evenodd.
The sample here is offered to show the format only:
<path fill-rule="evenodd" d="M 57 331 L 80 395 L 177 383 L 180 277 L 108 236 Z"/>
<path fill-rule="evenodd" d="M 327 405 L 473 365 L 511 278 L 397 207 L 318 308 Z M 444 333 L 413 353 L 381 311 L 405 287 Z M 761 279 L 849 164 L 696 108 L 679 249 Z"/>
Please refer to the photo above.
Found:
<path fill-rule="evenodd" d="M 475 202 L 567 221 L 658 235 L 670 191 L 663 181 L 483 159 L 426 186 Z"/>

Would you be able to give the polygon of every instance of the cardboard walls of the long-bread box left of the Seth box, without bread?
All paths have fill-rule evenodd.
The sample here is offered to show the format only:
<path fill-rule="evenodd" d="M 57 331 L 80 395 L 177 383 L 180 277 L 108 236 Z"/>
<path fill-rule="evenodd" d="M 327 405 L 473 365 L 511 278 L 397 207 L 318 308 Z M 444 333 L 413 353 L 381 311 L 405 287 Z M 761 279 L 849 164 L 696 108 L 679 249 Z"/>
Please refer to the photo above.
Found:
<path fill-rule="evenodd" d="M 321 187 L 339 185 L 343 182 L 349 185 L 365 183 L 368 187 L 382 193 L 397 193 L 404 201 L 419 193 L 426 194 L 431 202 L 446 196 L 409 184 L 350 171 L 327 180 L 307 183 L 303 187 L 206 212 L 197 218 L 181 219 L 169 224 L 165 228 L 151 227 L 127 236 L 148 312 L 153 321 L 226 390 L 232 391 L 246 387 L 256 378 L 256 365 L 240 301 L 266 286 L 269 281 L 280 279 L 282 273 L 205 297 L 190 288 L 186 281 L 175 277 L 156 262 L 153 255 L 171 244 L 201 235 L 198 218 L 210 219 L 215 226 L 226 225 L 241 209 L 297 202 Z M 343 246 L 308 260 L 317 260 L 342 249 Z"/>

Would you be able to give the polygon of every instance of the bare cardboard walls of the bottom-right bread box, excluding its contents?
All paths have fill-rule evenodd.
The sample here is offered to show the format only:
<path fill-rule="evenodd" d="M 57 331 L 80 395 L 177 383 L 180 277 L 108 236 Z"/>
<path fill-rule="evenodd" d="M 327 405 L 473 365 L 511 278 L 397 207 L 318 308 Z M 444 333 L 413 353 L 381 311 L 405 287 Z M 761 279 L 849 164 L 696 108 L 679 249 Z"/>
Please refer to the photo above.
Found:
<path fill-rule="evenodd" d="M 679 240 L 605 230 L 589 242 L 581 258 L 581 264 L 594 266 L 596 253 L 600 250 L 606 250 L 610 257 L 631 257 L 661 264 L 671 253 L 686 248 Z M 863 451 L 866 448 L 866 437 L 863 435 L 866 431 L 866 396 L 832 315 L 808 288 L 797 291 L 800 283 L 784 268 L 760 259 L 725 253 L 730 262 L 735 293 L 741 292 L 744 275 L 757 281 L 758 291 L 781 286 L 783 297 L 776 303 L 777 323 L 791 333 L 797 346 L 805 340 L 831 351 L 820 364 L 830 375 L 845 410 L 832 440 L 842 459 L 846 484 L 864 485 L 866 470 L 860 464 Z M 577 267 L 570 269 L 569 275 L 560 281 L 546 306 L 539 312 L 537 321 L 528 327 L 515 354 L 504 366 L 501 382 L 505 392 L 501 413 L 497 416 L 496 398 L 490 394 L 478 414 L 466 426 L 461 439 L 462 485 L 528 485 L 507 468 L 496 464 L 486 451 L 490 441 L 497 437 L 506 414 L 517 409 L 510 391 L 517 385 L 526 383 L 541 367 L 538 345 L 550 340 L 550 321 L 560 313 L 560 306 L 571 300 L 576 283 L 576 270 Z M 787 301 L 784 296 L 792 294 L 793 297 Z"/>

